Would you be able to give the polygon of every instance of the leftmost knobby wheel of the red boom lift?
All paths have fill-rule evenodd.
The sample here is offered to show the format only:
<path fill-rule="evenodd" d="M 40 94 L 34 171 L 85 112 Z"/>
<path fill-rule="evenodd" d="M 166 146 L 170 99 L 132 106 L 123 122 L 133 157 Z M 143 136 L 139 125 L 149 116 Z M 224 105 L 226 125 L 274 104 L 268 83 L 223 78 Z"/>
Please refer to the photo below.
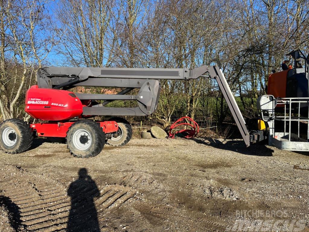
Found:
<path fill-rule="evenodd" d="M 6 153 L 21 153 L 33 142 L 33 131 L 27 122 L 8 119 L 0 125 L 0 146 Z"/>

